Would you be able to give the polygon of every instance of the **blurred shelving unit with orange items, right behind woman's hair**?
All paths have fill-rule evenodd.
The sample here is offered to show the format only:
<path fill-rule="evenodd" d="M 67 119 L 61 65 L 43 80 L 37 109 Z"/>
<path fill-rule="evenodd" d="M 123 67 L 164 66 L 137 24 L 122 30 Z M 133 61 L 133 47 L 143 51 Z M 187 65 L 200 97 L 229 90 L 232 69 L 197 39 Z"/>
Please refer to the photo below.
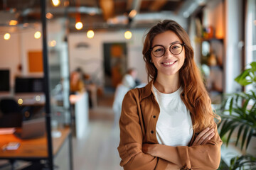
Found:
<path fill-rule="evenodd" d="M 220 104 L 225 93 L 225 3 L 209 1 L 193 14 L 195 57 L 203 73 L 213 104 Z M 218 19 L 216 19 L 218 18 Z"/>

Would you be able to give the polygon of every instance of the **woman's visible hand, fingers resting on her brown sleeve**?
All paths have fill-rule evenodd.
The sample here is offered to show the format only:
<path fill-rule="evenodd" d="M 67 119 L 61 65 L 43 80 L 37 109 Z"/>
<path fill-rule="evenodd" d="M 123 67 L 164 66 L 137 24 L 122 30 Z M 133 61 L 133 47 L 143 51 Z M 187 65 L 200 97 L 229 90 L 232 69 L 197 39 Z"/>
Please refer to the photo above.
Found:
<path fill-rule="evenodd" d="M 196 140 L 193 142 L 192 146 L 204 145 L 208 140 L 214 137 L 214 135 L 215 133 L 213 128 L 206 128 L 205 130 L 199 133 L 199 135 L 196 137 Z"/>

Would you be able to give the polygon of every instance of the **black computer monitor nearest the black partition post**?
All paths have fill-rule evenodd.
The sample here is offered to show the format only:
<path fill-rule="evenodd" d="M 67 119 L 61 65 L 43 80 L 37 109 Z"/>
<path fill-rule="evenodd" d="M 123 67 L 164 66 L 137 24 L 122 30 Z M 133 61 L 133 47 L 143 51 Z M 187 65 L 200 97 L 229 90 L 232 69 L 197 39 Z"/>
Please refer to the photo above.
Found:
<path fill-rule="evenodd" d="M 15 93 L 44 92 L 43 78 L 16 77 Z"/>

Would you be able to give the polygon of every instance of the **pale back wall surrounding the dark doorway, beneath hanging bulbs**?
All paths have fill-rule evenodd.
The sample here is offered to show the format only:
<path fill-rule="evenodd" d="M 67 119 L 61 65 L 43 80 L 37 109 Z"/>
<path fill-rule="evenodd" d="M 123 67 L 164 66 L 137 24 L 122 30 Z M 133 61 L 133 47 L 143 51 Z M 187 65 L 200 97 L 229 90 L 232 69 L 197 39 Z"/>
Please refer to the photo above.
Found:
<path fill-rule="evenodd" d="M 147 82 L 145 62 L 143 60 L 143 35 L 145 30 L 131 30 L 132 38 L 126 40 L 126 30 L 95 32 L 95 37 L 87 38 L 86 33 L 70 33 L 68 37 L 70 71 L 81 67 L 88 74 L 97 74 L 97 80 L 104 84 L 104 54 L 103 43 L 105 42 L 127 42 L 127 67 L 138 70 L 138 78 Z M 77 48 L 78 43 L 84 42 L 88 47 Z"/>

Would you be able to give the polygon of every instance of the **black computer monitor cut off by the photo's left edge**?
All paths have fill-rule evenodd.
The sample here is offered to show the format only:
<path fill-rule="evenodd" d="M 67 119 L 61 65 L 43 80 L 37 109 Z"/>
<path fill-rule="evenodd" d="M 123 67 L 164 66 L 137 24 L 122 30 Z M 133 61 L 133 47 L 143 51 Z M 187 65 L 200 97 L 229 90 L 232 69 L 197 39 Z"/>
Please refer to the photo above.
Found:
<path fill-rule="evenodd" d="M 0 91 L 10 91 L 10 70 L 0 69 Z"/>

